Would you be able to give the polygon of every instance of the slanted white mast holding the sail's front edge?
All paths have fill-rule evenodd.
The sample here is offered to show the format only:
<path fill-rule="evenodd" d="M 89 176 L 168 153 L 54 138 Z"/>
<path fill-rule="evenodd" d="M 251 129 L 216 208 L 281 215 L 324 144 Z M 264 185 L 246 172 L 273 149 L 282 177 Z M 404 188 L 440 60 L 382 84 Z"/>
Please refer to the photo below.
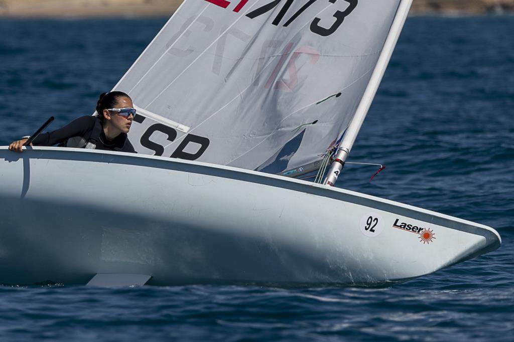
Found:
<path fill-rule="evenodd" d="M 370 109 L 371 102 L 375 97 L 383 74 L 386 72 L 387 65 L 389 64 L 394 47 L 396 46 L 396 42 L 400 36 L 401 29 L 403 24 L 405 24 L 407 14 L 409 14 L 411 4 L 412 0 L 402 0 L 398 6 L 398 11 L 396 12 L 393 24 L 391 25 L 391 30 L 389 31 L 386 42 L 384 43 L 375 70 L 371 75 L 368 87 L 366 87 L 364 95 L 362 96 L 362 100 L 360 101 L 359 106 L 355 111 L 355 115 L 350 122 L 350 125 L 348 125 L 348 128 L 346 129 L 346 134 L 344 135 L 343 141 L 341 141 L 341 144 L 337 149 L 334 162 L 332 163 L 331 168 L 328 170 L 328 174 L 323 181 L 323 184 L 330 186 L 334 186 L 336 184 L 337 177 L 341 173 L 341 169 L 343 168 L 348 155 L 350 155 L 350 150 L 352 149 L 355 139 L 357 138 L 357 134 L 359 134 L 362 122 L 366 118 L 366 114 Z"/>

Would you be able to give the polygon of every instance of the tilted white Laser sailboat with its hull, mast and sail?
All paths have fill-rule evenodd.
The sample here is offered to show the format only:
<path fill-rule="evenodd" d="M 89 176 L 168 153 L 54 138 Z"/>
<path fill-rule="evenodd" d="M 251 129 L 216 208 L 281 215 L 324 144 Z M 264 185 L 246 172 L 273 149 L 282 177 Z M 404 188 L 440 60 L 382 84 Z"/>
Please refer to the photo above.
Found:
<path fill-rule="evenodd" d="M 411 2 L 183 2 L 114 87 L 138 154 L 0 147 L 0 283 L 380 286 L 499 248 L 334 186 Z"/>

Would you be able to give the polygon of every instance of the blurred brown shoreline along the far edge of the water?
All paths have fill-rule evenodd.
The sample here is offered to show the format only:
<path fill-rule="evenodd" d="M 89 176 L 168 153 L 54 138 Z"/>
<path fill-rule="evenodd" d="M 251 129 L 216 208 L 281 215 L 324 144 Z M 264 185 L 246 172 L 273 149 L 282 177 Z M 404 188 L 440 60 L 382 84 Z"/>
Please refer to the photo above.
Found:
<path fill-rule="evenodd" d="M 182 0 L 0 0 L 0 17 L 169 16 Z M 414 0 L 413 15 L 514 13 L 514 0 Z"/>

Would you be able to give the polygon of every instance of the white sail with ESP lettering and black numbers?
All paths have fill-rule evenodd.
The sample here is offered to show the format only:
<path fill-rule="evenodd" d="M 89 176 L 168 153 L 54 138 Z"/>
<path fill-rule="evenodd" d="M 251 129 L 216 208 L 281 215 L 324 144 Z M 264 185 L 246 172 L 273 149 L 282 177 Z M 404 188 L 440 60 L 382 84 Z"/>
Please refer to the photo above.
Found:
<path fill-rule="evenodd" d="M 137 116 L 131 142 L 266 172 L 319 159 L 352 121 L 401 2 L 186 0 L 115 87 L 156 114 Z"/>

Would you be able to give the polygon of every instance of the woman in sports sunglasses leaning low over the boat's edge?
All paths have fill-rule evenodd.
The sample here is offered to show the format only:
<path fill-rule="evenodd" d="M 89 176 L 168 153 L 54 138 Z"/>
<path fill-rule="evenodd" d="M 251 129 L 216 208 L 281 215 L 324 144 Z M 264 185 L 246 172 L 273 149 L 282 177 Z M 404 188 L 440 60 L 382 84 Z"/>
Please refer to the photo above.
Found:
<path fill-rule="evenodd" d="M 127 133 L 136 115 L 131 98 L 121 91 L 102 93 L 97 102 L 97 116 L 84 116 L 66 126 L 39 135 L 31 145 L 85 147 L 136 153 Z M 9 145 L 11 151 L 21 152 L 30 137 Z"/>

